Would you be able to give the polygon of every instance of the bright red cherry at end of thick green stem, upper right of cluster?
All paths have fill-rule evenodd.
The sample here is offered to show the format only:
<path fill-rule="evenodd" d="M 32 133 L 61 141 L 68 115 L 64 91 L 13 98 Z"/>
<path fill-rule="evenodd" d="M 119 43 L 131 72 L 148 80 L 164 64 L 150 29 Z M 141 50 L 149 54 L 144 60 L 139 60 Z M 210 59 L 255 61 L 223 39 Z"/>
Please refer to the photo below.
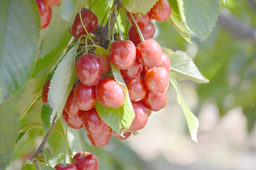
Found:
<path fill-rule="evenodd" d="M 154 68 L 161 62 L 162 49 L 156 40 L 148 39 L 136 47 L 136 55 L 143 65 Z"/>

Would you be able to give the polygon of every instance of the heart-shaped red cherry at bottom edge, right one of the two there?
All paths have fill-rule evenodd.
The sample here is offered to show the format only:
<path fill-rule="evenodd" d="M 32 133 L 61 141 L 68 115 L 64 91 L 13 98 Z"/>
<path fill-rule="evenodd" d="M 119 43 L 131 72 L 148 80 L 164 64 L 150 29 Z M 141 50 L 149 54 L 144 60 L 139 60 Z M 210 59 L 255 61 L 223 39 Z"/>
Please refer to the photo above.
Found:
<path fill-rule="evenodd" d="M 76 165 L 78 170 L 98 170 L 99 161 L 98 158 L 90 152 L 78 152 L 74 155 L 72 163 Z"/>

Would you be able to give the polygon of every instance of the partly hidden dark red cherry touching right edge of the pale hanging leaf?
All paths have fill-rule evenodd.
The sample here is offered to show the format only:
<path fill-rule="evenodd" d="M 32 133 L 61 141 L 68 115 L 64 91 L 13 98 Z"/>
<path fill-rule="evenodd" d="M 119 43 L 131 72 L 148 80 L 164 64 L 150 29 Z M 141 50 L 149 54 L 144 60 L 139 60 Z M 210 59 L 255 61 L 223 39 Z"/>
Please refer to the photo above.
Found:
<path fill-rule="evenodd" d="M 76 105 L 74 98 L 74 89 L 69 93 L 64 109 L 69 115 L 75 116 L 79 114 L 79 107 Z"/>

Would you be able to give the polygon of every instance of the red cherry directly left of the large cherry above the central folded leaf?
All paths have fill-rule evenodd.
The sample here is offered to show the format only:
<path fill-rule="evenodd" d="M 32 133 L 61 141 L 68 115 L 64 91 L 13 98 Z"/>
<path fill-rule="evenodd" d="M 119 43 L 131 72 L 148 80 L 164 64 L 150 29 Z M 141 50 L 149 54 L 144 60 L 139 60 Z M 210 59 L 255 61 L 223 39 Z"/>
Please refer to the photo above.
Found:
<path fill-rule="evenodd" d="M 95 85 L 88 86 L 79 82 L 74 89 L 74 98 L 80 110 L 90 110 L 96 103 Z"/>

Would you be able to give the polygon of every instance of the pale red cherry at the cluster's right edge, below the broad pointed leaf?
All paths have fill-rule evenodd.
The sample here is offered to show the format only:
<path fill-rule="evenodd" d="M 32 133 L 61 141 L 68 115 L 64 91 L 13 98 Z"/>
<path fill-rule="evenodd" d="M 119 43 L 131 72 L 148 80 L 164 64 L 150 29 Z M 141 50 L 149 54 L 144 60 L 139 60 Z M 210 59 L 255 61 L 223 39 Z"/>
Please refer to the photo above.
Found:
<path fill-rule="evenodd" d="M 169 74 L 164 67 L 148 69 L 145 75 L 145 85 L 153 94 L 164 93 L 169 86 Z"/>

